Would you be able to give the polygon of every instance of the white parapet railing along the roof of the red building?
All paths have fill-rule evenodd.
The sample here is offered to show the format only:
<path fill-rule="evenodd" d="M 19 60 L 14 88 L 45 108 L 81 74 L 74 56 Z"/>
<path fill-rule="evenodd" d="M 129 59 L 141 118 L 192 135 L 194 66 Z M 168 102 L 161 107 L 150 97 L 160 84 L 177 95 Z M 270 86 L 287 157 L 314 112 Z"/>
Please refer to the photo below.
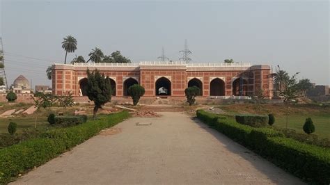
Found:
<path fill-rule="evenodd" d="M 81 66 L 81 67 L 88 67 L 88 66 L 139 67 L 141 65 L 148 65 L 148 66 L 182 65 L 186 67 L 251 67 L 251 63 L 185 63 L 184 61 L 141 61 L 140 63 L 73 63 L 73 64 L 54 63 L 54 65 Z"/>

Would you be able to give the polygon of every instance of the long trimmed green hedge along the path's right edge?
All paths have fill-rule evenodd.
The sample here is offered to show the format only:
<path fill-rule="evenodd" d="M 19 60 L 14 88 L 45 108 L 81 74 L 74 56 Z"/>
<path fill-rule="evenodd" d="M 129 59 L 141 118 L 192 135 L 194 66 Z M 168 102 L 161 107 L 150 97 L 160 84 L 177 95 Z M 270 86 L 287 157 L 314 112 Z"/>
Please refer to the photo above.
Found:
<path fill-rule="evenodd" d="M 217 115 L 203 110 L 198 110 L 196 114 L 205 124 L 297 177 L 316 184 L 330 183 L 329 149 L 285 138 L 281 131 L 271 128 L 253 128 L 230 119 L 218 118 L 215 121 Z"/>

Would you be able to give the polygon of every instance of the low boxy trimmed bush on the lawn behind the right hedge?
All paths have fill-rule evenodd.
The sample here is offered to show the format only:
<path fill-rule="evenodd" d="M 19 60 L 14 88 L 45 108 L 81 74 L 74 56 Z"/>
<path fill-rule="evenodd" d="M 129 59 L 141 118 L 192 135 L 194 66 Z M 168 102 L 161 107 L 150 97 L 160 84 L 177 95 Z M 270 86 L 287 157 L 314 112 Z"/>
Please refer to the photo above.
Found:
<path fill-rule="evenodd" d="M 235 115 L 236 122 L 251 127 L 265 127 L 268 123 L 266 115 Z"/>

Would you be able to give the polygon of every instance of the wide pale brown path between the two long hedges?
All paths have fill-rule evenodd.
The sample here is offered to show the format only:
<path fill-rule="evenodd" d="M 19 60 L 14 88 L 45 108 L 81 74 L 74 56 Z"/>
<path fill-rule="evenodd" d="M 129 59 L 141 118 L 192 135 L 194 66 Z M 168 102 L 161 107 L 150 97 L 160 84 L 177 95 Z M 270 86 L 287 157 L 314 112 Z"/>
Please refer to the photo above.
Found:
<path fill-rule="evenodd" d="M 184 113 L 162 114 L 126 120 L 13 184 L 303 184 Z"/>

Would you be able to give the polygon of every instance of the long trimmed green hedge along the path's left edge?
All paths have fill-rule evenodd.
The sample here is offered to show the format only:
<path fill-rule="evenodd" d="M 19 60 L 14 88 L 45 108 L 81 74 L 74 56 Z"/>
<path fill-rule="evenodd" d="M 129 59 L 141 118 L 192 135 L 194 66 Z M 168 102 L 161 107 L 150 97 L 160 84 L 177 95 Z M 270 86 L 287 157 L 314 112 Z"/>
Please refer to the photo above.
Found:
<path fill-rule="evenodd" d="M 127 111 L 113 113 L 100 120 L 93 120 L 75 127 L 52 129 L 40 138 L 23 141 L 0 150 L 0 184 L 17 177 L 95 136 L 102 129 L 112 127 L 129 117 Z"/>

